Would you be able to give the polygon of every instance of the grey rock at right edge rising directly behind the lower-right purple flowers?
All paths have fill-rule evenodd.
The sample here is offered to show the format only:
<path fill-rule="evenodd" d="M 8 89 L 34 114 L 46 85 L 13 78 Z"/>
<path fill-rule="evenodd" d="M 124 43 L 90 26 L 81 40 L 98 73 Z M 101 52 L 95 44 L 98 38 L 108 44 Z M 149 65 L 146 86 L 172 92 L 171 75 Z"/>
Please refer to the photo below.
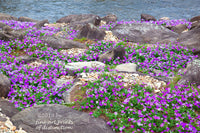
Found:
<path fill-rule="evenodd" d="M 179 84 L 186 85 L 189 82 L 191 84 L 200 85 L 200 60 L 195 59 L 191 63 L 187 64 L 186 72 L 183 78 L 178 81 Z"/>

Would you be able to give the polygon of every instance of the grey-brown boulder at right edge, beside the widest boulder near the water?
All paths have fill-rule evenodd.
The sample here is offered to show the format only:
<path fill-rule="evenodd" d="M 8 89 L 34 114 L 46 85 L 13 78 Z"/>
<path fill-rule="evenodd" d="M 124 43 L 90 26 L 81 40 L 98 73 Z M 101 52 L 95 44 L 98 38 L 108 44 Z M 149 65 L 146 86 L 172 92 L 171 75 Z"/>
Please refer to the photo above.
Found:
<path fill-rule="evenodd" d="M 195 49 L 194 54 L 200 54 L 200 28 L 181 33 L 178 41 L 189 50 Z"/>

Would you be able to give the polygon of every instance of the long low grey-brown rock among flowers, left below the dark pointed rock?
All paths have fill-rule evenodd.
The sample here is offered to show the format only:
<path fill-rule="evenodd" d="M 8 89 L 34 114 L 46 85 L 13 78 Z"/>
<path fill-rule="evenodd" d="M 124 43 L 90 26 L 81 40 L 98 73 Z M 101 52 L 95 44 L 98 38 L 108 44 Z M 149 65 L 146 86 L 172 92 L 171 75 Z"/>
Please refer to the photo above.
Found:
<path fill-rule="evenodd" d="M 64 39 L 61 37 L 55 37 L 55 36 L 43 36 L 40 37 L 40 40 L 43 41 L 43 43 L 47 43 L 50 47 L 54 49 L 71 49 L 71 48 L 85 48 L 86 46 L 82 43 Z"/>

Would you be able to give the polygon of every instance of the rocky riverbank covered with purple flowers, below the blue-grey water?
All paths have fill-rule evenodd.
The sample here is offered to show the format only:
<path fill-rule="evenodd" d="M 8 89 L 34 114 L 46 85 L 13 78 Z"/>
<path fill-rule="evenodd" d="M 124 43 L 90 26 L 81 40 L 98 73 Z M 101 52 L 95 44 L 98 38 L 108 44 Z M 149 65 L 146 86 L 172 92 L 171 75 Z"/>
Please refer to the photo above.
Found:
<path fill-rule="evenodd" d="M 198 132 L 199 26 L 0 13 L 0 132 Z"/>

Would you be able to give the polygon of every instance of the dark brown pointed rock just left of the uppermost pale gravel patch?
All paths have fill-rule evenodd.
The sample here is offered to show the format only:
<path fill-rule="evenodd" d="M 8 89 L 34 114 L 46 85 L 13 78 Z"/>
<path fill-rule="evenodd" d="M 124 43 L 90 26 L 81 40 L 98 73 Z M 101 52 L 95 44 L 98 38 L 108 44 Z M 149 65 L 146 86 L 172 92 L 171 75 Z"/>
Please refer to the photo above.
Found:
<path fill-rule="evenodd" d="M 103 29 L 97 28 L 95 25 L 89 23 L 83 26 L 78 32 L 78 38 L 86 37 L 91 40 L 103 40 L 106 33 Z"/>

